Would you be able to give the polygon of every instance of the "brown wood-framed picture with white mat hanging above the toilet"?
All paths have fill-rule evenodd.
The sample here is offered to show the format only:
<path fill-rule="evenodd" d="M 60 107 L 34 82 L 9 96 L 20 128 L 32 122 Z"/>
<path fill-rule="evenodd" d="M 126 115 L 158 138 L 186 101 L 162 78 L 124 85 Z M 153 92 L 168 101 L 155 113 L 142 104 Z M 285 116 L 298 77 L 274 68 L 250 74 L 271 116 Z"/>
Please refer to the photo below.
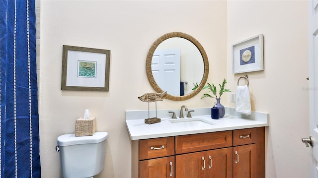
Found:
<path fill-rule="evenodd" d="M 110 50 L 63 45 L 61 90 L 108 91 Z"/>

